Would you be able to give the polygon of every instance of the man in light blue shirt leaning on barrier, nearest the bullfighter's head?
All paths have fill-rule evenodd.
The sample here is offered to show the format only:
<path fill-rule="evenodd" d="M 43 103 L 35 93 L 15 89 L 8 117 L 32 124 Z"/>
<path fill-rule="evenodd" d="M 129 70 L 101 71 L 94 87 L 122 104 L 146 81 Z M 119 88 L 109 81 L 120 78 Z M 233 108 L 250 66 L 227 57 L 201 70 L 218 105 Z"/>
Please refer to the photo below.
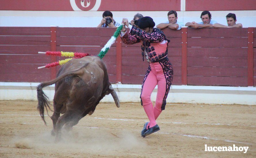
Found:
<path fill-rule="evenodd" d="M 169 11 L 167 14 L 167 17 L 168 17 L 168 22 L 158 24 L 156 28 L 164 29 L 168 27 L 173 30 L 180 30 L 181 27 L 184 26 L 182 22 L 177 22 L 178 17 L 177 17 L 176 11 L 174 10 Z"/>

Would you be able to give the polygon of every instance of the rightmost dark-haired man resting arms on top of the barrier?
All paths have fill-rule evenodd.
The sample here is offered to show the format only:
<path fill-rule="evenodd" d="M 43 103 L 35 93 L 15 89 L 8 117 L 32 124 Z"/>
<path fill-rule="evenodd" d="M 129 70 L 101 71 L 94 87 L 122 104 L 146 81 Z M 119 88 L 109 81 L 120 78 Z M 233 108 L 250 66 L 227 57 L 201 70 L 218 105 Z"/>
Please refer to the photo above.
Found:
<path fill-rule="evenodd" d="M 242 24 L 236 24 L 236 14 L 233 14 L 233 13 L 229 13 L 227 16 L 227 23 L 228 23 L 228 26 L 226 25 L 222 25 L 222 24 L 213 24 L 213 27 L 214 28 L 242 28 Z"/>

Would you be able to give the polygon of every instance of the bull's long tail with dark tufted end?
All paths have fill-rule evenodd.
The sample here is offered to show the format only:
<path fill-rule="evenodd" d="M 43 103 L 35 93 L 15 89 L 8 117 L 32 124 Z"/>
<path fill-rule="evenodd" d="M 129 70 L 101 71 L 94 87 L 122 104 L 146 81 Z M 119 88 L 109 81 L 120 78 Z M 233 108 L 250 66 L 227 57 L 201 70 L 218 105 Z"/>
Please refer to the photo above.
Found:
<path fill-rule="evenodd" d="M 44 119 L 44 107 L 47 111 L 47 114 L 48 114 L 47 107 L 50 110 L 51 110 L 51 108 L 49 107 L 49 104 L 50 104 L 49 98 L 43 92 L 43 88 L 58 82 L 59 80 L 61 80 L 62 78 L 66 77 L 66 76 L 81 76 L 82 74 L 83 74 L 83 71 L 81 69 L 71 71 L 71 72 L 62 74 L 61 76 L 55 78 L 54 80 L 51 80 L 49 82 L 41 83 L 37 86 L 37 101 L 38 101 L 37 110 L 39 111 L 39 113 L 40 113 L 40 115 L 41 115 L 45 124 L 46 124 L 46 122 L 45 122 L 45 119 Z"/>

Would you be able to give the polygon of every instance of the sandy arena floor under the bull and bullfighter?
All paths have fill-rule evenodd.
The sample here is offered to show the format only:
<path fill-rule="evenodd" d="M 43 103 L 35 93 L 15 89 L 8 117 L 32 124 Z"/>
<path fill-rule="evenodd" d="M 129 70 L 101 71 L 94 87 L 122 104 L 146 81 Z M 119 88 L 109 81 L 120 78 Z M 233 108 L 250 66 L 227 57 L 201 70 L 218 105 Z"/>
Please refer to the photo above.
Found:
<path fill-rule="evenodd" d="M 43 124 L 36 101 L 0 104 L 0 157 L 256 157 L 255 105 L 167 104 L 161 130 L 142 138 L 140 103 L 100 103 L 55 144 L 52 121 L 45 116 Z M 205 144 L 249 149 L 208 152 Z"/>

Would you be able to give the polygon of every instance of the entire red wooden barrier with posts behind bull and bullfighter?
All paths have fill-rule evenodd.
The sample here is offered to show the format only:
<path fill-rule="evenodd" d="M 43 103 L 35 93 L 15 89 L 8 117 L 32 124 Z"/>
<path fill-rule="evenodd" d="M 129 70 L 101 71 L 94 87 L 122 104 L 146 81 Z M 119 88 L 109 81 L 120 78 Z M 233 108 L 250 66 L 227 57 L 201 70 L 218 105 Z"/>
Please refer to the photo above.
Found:
<path fill-rule="evenodd" d="M 173 85 L 255 85 L 255 29 L 164 29 L 171 41 L 168 57 L 174 68 Z M 0 27 L 0 81 L 43 82 L 55 78 L 60 66 L 50 70 L 37 67 L 66 57 L 47 57 L 37 54 L 38 51 L 97 55 L 114 31 L 114 28 Z M 140 44 L 120 42 L 118 38 L 103 58 L 110 82 L 141 84 L 148 63 L 142 61 Z"/>

